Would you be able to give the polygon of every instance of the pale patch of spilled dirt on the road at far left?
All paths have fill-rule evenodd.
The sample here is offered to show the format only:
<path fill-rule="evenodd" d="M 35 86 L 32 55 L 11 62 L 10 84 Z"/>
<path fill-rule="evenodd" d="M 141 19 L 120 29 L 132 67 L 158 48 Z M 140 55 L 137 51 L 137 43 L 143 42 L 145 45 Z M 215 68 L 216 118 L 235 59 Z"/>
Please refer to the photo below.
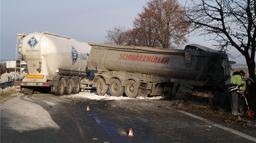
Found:
<path fill-rule="evenodd" d="M 33 101 L 20 99 L 22 95 L 24 94 L 17 94 L 14 98 L 1 103 L 1 118 L 5 119 L 4 122 L 9 128 L 19 132 L 40 128 L 59 128 L 45 109 Z"/>

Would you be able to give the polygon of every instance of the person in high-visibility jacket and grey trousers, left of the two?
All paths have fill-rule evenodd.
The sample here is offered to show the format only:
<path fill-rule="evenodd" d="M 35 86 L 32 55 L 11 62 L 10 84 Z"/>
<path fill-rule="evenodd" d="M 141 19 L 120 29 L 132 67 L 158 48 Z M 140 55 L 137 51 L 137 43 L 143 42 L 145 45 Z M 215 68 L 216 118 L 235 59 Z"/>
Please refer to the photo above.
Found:
<path fill-rule="evenodd" d="M 242 115 L 239 113 L 238 109 L 241 104 L 241 97 L 240 97 L 240 87 L 244 86 L 242 83 L 242 76 L 245 75 L 243 70 L 236 71 L 232 74 L 230 78 L 230 86 L 229 86 L 229 93 L 231 94 L 231 109 L 233 115 Z M 241 111 L 242 113 L 244 111 Z"/>

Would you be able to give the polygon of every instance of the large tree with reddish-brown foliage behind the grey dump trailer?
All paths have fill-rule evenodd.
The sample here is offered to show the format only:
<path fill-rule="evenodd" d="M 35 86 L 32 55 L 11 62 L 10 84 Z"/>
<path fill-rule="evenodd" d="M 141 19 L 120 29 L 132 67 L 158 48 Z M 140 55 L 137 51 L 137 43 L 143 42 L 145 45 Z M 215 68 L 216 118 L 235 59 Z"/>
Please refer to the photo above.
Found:
<path fill-rule="evenodd" d="M 139 46 L 176 48 L 187 42 L 184 11 L 177 0 L 151 0 L 133 22 Z"/>

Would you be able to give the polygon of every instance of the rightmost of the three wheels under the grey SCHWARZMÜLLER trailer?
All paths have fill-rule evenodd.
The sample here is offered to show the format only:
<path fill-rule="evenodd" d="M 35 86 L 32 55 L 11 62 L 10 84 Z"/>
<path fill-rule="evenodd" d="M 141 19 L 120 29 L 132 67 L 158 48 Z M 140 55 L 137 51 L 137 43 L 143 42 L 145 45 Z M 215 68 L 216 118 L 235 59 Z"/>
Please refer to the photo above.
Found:
<path fill-rule="evenodd" d="M 124 86 L 124 92 L 128 97 L 137 97 L 138 91 L 137 84 L 134 80 L 128 81 Z"/>

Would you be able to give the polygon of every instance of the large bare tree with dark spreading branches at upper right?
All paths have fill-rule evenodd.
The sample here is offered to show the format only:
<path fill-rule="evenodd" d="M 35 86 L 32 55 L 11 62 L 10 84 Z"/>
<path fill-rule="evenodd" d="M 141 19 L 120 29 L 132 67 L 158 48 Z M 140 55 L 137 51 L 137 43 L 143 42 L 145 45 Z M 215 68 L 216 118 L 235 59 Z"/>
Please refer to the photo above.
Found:
<path fill-rule="evenodd" d="M 184 7 L 196 34 L 217 41 L 229 55 L 236 48 L 255 81 L 256 0 L 191 0 Z"/>

